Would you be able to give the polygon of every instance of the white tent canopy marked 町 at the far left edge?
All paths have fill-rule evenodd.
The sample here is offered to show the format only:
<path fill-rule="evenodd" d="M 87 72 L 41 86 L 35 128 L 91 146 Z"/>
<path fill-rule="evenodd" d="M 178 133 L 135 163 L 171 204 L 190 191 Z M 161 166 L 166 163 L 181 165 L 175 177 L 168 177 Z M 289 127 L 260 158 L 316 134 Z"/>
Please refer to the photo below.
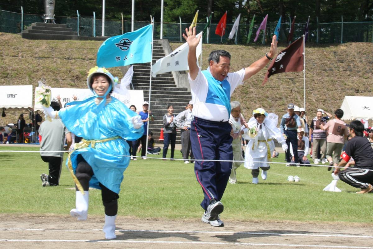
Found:
<path fill-rule="evenodd" d="M 0 108 L 32 108 L 32 85 L 0 86 Z"/>

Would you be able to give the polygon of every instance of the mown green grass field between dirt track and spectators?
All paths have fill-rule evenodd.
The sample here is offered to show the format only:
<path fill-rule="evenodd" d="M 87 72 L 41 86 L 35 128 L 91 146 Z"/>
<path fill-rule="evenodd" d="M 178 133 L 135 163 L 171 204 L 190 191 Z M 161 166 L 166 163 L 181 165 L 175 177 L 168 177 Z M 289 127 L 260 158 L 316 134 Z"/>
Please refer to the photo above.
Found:
<path fill-rule="evenodd" d="M 40 174 L 48 173 L 37 147 L 0 147 L 0 212 L 2 214 L 66 215 L 75 206 L 73 180 L 63 167 L 60 186 L 41 187 Z M 181 154 L 176 151 L 176 158 Z M 160 155 L 152 155 L 160 158 Z M 66 158 L 66 155 L 65 155 Z M 284 154 L 274 161 L 284 162 Z M 237 170 L 238 184 L 228 183 L 222 202 L 223 219 L 241 221 L 345 221 L 373 223 L 373 195 L 338 182 L 341 193 L 322 189 L 331 182 L 325 167 L 285 167 L 272 164 L 266 181 L 251 184 L 250 170 Z M 287 182 L 297 175 L 300 182 Z M 124 173 L 119 215 L 144 219 L 199 219 L 203 194 L 193 164 L 156 159 L 131 161 Z M 90 191 L 89 215 L 102 215 L 101 192 Z M 363 215 L 362 215 L 363 214 Z"/>

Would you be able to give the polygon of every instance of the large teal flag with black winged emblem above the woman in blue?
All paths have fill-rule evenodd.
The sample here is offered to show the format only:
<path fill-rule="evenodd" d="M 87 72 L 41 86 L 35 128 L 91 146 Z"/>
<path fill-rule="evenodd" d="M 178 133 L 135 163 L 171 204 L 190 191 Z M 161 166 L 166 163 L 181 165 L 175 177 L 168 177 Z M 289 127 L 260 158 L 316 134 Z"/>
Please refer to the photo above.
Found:
<path fill-rule="evenodd" d="M 108 38 L 97 52 L 98 67 L 120 67 L 151 62 L 153 25 Z"/>

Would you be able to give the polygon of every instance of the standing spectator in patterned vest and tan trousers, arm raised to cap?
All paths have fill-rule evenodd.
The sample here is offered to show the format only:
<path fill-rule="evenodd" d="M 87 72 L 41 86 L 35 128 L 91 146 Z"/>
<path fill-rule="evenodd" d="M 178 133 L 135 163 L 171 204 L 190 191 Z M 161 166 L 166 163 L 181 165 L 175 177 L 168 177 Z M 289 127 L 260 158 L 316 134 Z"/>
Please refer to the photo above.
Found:
<path fill-rule="evenodd" d="M 312 155 L 314 164 L 319 164 L 322 160 L 322 164 L 326 163 L 326 132 L 320 128 L 320 124 L 326 124 L 326 121 L 332 117 L 329 113 L 326 113 L 328 117 L 323 117 L 324 110 L 319 109 L 316 112 L 316 117 L 310 123 L 310 137 L 309 140 L 313 142 Z M 321 149 L 321 157 L 318 157 L 319 146 Z"/>

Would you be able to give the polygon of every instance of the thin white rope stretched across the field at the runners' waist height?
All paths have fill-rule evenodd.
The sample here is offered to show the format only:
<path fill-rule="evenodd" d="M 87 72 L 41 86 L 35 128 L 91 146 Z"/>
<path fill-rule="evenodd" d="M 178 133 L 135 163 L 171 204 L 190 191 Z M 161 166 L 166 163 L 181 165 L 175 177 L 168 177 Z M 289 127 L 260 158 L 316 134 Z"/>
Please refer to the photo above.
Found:
<path fill-rule="evenodd" d="M 70 152 L 70 151 L 2 151 L 0 152 L 22 152 L 22 153 L 47 153 L 47 152 Z M 131 156 L 131 155 L 113 155 L 116 157 L 132 157 L 132 158 L 142 158 L 140 156 Z M 179 158 L 161 158 L 161 157 L 145 157 L 147 159 L 157 159 L 157 160 L 173 160 L 173 161 L 204 161 L 204 162 L 239 162 L 244 163 L 245 161 L 241 160 L 214 160 L 214 159 L 179 159 Z M 287 163 L 280 163 L 280 162 L 268 162 L 268 161 L 253 161 L 253 163 L 269 163 L 269 164 L 287 164 Z M 296 163 L 290 163 L 290 165 L 296 165 Z M 315 166 L 315 167 L 334 167 L 334 168 L 344 168 L 340 166 L 330 166 L 330 165 L 319 165 L 319 164 L 301 164 L 298 163 L 300 166 Z M 355 168 L 355 169 L 361 169 L 361 170 L 367 170 L 367 171 L 373 171 L 368 168 Z"/>

